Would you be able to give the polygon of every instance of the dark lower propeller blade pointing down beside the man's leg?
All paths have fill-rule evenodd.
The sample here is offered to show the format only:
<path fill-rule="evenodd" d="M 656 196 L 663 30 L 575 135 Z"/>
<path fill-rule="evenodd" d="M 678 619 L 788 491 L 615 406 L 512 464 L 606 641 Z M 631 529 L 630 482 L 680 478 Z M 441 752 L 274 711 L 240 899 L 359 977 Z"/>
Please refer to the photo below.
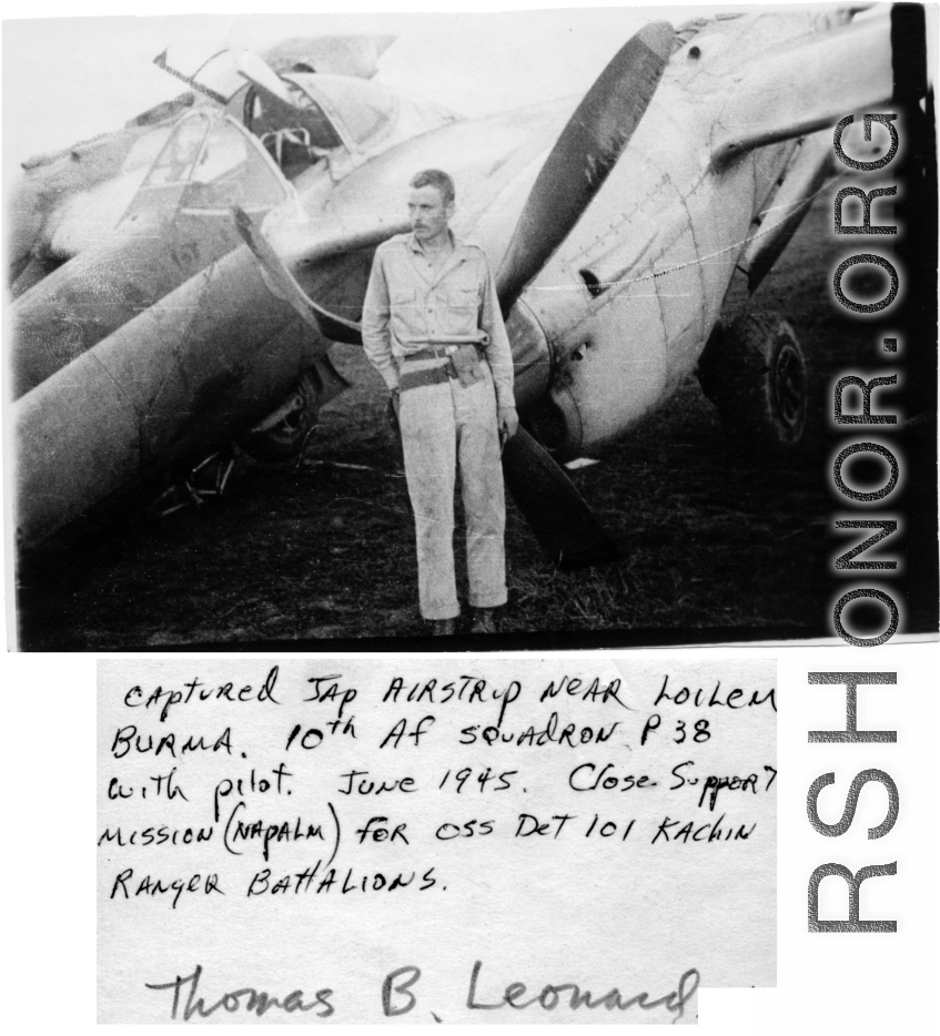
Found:
<path fill-rule="evenodd" d="M 503 475 L 539 546 L 559 568 L 621 558 L 568 476 L 525 428 L 503 449 Z"/>

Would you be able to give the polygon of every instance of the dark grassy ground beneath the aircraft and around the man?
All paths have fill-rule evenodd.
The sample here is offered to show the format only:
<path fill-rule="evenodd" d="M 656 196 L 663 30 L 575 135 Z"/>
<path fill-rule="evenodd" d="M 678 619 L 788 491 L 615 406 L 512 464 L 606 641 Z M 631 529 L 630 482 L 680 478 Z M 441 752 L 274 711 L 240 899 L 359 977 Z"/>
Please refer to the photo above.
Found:
<path fill-rule="evenodd" d="M 623 544 L 621 563 L 555 571 L 511 505 L 502 630 L 512 636 L 487 646 L 829 632 L 826 612 L 839 587 L 829 559 L 841 540 L 831 535 L 838 501 L 827 458 L 840 437 L 825 414 L 837 373 L 880 363 L 871 328 L 847 319 L 832 298 L 829 271 L 841 243 L 830 226 L 830 203 L 821 200 L 754 303 L 790 321 L 808 360 L 801 447 L 772 461 L 748 455 L 689 378 L 600 464 L 572 475 Z M 322 650 L 324 639 L 365 648 L 361 638 L 424 637 L 385 395 L 360 351 L 345 347 L 341 363 L 356 387 L 324 408 L 299 468 L 242 463 L 218 502 L 159 520 L 127 510 L 117 522 L 88 522 L 81 538 L 21 566 L 21 647 L 231 650 L 314 641 Z"/>

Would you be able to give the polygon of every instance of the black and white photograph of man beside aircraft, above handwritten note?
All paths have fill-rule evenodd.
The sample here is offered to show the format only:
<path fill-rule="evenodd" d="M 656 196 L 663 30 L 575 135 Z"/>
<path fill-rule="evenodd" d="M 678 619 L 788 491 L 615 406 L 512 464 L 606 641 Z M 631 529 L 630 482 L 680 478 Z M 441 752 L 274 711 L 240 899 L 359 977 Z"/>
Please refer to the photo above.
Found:
<path fill-rule="evenodd" d="M 936 636 L 927 22 L 6 22 L 10 642 Z"/>

